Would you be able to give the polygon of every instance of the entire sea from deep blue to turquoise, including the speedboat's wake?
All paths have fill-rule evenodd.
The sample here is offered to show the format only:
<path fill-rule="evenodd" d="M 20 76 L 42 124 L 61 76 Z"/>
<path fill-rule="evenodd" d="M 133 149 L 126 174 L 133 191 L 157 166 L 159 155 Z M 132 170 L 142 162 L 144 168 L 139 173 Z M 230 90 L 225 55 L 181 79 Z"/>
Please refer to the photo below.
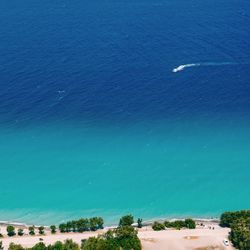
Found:
<path fill-rule="evenodd" d="M 0 24 L 0 220 L 250 208 L 248 0 L 2 0 Z"/>

